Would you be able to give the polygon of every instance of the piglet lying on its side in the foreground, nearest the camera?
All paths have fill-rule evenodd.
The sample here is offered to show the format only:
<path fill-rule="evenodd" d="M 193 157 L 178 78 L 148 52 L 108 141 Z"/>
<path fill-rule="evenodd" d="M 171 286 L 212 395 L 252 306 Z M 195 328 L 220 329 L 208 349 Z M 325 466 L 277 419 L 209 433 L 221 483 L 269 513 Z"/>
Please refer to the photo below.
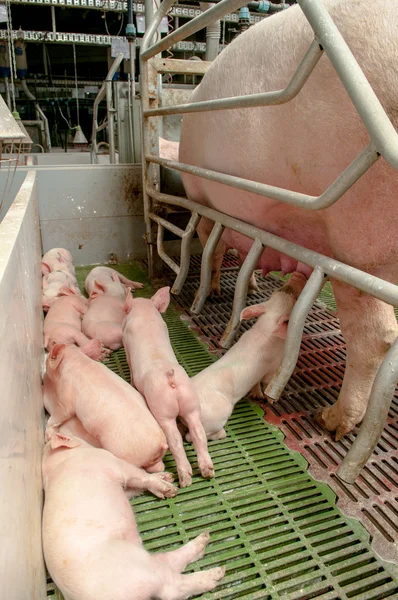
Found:
<path fill-rule="evenodd" d="M 65 600 L 184 600 L 224 576 L 220 567 L 182 575 L 208 532 L 170 552 L 144 549 L 128 497 L 174 496 L 169 473 L 149 475 L 62 431 L 44 448 L 42 473 L 44 558 Z"/>

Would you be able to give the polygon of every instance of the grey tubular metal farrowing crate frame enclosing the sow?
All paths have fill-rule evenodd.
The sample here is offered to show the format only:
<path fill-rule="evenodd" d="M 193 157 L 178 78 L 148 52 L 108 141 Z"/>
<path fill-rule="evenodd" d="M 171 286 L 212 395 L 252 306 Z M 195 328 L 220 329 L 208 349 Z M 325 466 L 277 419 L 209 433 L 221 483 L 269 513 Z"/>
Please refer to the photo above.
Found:
<path fill-rule="evenodd" d="M 310 210 L 320 210 L 334 204 L 377 160 L 380 156 L 390 164 L 398 168 L 398 134 L 387 117 L 377 96 L 352 55 L 346 42 L 335 26 L 329 13 L 321 0 L 298 0 L 298 4 L 314 30 L 315 38 L 311 43 L 304 59 L 297 68 L 291 81 L 283 90 L 266 92 L 234 98 L 222 98 L 213 101 L 192 102 L 174 107 L 159 107 L 156 88 L 156 61 L 154 57 L 178 43 L 185 37 L 193 35 L 199 29 L 207 27 L 213 21 L 220 19 L 228 11 L 234 11 L 245 5 L 242 0 L 222 0 L 220 3 L 208 9 L 192 21 L 186 23 L 171 34 L 151 44 L 151 39 L 164 15 L 170 10 L 175 0 L 163 0 L 160 8 L 154 14 L 141 44 L 141 99 L 143 113 L 143 185 L 144 185 L 144 210 L 147 230 L 149 274 L 152 277 L 155 265 L 155 222 L 157 208 L 161 205 L 179 206 L 205 216 L 215 223 L 215 229 L 206 244 L 203 253 L 201 285 L 192 306 L 194 312 L 199 312 L 203 307 L 208 291 L 211 268 L 211 257 L 221 236 L 222 228 L 228 227 L 239 231 L 254 241 L 245 263 L 239 275 L 239 285 L 235 290 L 234 306 L 231 320 L 227 331 L 223 336 L 223 343 L 228 346 L 233 339 L 237 326 L 238 311 L 245 302 L 248 277 L 250 270 L 255 265 L 256 259 L 261 255 L 263 246 L 282 252 L 303 262 L 315 271 L 308 280 L 300 301 L 296 304 L 294 318 L 288 329 L 288 339 L 285 357 L 279 374 L 274 377 L 267 388 L 275 400 L 289 378 L 297 360 L 303 325 L 314 299 L 322 288 L 325 277 L 330 275 L 334 279 L 343 281 L 360 289 L 388 304 L 398 306 L 398 287 L 378 277 L 354 269 L 339 261 L 328 258 L 286 240 L 278 238 L 270 233 L 262 231 L 257 227 L 249 225 L 238 219 L 234 219 L 219 211 L 201 206 L 185 198 L 163 194 L 159 191 L 159 166 L 173 168 L 178 171 L 191 173 L 212 181 L 217 181 L 238 189 L 243 189 L 267 196 L 281 202 Z M 371 139 L 371 143 L 356 157 L 356 159 L 345 169 L 341 176 L 319 197 L 299 194 L 290 190 L 274 186 L 260 184 L 240 177 L 226 175 L 216 171 L 201 169 L 199 167 L 186 165 L 177 161 L 169 161 L 159 158 L 158 132 L 159 118 L 161 115 L 185 114 L 188 112 L 204 112 L 213 110 L 228 110 L 232 108 L 271 106 L 288 102 L 301 90 L 312 70 L 315 68 L 322 53 L 325 52 L 337 72 L 340 80 L 345 86 L 351 101 L 360 115 Z M 164 59 L 167 62 L 167 59 Z M 183 67 L 181 67 L 183 69 Z M 185 244 L 184 252 L 189 253 Z M 164 257 L 163 257 L 164 258 Z M 182 260 L 185 260 L 182 256 Z M 183 281 L 179 280 L 179 286 Z M 388 376 L 387 376 L 388 375 Z M 352 448 L 343 460 L 338 474 L 344 480 L 352 483 L 359 474 L 362 466 L 373 451 L 380 434 L 383 430 L 385 414 L 392 399 L 394 386 L 398 382 L 398 341 L 394 343 L 383 363 L 380 366 L 374 382 L 370 400 L 369 410 L 366 413 L 361 428 Z M 383 408 L 380 399 L 383 398 Z M 376 408 L 377 407 L 377 410 Z M 382 418 L 380 418 L 380 416 Z M 370 433 L 371 432 L 371 433 Z"/>

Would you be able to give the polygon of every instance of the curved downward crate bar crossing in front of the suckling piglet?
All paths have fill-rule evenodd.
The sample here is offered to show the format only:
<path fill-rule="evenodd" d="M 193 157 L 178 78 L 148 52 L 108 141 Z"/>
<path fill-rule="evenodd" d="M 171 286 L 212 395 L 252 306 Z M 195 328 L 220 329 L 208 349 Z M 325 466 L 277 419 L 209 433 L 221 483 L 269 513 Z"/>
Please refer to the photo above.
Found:
<path fill-rule="evenodd" d="M 270 399 L 271 404 L 279 400 L 287 382 L 292 376 L 300 353 L 305 320 L 319 292 L 325 285 L 325 281 L 326 276 L 322 269 L 315 267 L 294 305 L 287 328 L 282 364 L 265 390 L 265 395 Z"/>

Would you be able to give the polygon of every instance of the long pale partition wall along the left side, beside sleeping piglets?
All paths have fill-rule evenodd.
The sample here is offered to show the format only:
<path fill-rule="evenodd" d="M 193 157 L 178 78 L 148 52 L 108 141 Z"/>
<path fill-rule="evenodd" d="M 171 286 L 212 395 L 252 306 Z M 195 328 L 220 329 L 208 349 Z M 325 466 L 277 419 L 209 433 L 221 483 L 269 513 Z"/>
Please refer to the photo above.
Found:
<path fill-rule="evenodd" d="M 35 173 L 0 224 L 0 598 L 46 598 L 41 549 L 43 359 Z"/>

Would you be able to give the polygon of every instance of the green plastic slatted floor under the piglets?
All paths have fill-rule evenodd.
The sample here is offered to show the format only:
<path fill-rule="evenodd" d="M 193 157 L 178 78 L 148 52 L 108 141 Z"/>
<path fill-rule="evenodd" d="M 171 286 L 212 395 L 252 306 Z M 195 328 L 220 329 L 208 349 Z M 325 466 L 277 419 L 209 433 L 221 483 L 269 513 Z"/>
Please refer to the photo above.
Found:
<path fill-rule="evenodd" d="M 120 271 L 145 281 L 136 266 Z M 150 294 L 146 286 L 141 295 Z M 165 320 L 176 356 L 190 376 L 215 360 L 174 309 Z M 107 364 L 129 379 L 124 350 Z M 214 479 L 200 477 L 192 446 L 186 444 L 193 485 L 173 499 L 146 494 L 133 501 L 147 550 L 170 550 L 210 529 L 205 557 L 190 568 L 226 565 L 227 572 L 222 584 L 202 598 L 398 598 L 397 568 L 370 550 L 365 529 L 341 514 L 330 488 L 308 475 L 304 459 L 264 422 L 261 408 L 241 402 L 226 429 L 225 440 L 209 442 Z M 169 455 L 165 462 L 175 473 Z"/>

